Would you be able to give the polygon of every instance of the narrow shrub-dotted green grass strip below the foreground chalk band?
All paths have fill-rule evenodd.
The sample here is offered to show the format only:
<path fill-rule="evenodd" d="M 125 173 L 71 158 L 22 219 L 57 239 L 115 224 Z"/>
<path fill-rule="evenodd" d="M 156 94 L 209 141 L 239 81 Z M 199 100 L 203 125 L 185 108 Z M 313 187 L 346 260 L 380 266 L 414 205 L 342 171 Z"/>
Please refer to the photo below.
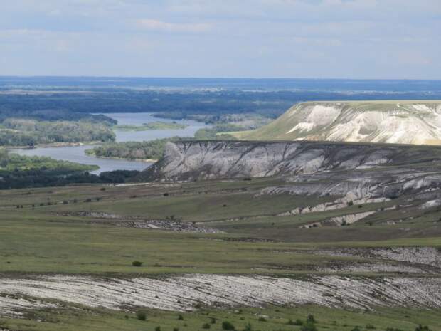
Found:
<path fill-rule="evenodd" d="M 336 310 L 317 306 L 298 308 L 267 307 L 237 308 L 235 310 L 203 309 L 198 312 L 145 312 L 146 320 L 135 313 L 115 312 L 76 307 L 75 309 L 30 312 L 28 320 L 0 319 L 0 327 L 11 330 L 35 331 L 120 331 L 120 330 L 224 330 L 228 321 L 235 330 L 300 331 L 302 325 L 292 325 L 296 320 L 306 322 L 314 316 L 317 330 L 403 330 L 413 331 L 418 325 L 427 325 L 432 331 L 441 330 L 440 310 L 408 310 L 381 308 L 377 312 Z M 37 321 L 38 320 L 38 321 Z M 290 320 L 292 322 L 290 322 Z M 207 326 L 208 325 L 208 326 Z M 248 328 L 247 328 L 248 327 Z"/>

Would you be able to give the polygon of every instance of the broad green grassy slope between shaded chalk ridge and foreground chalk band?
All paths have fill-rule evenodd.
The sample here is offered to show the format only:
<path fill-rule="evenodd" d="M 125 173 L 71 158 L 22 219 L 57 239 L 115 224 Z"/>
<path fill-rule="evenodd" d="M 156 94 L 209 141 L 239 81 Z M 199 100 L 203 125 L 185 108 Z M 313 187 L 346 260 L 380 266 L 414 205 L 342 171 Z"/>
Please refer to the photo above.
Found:
<path fill-rule="evenodd" d="M 1 270 L 4 273 L 304 273 L 313 272 L 312 266 L 326 266 L 341 258 L 294 253 L 299 248 L 386 247 L 395 242 L 401 246 L 440 246 L 440 224 L 434 220 L 440 219 L 441 211 L 423 214 L 412 206 L 384 211 L 382 216 L 369 216 L 351 226 L 299 228 L 332 216 L 387 208 L 400 200 L 366 204 L 362 208 L 347 206 L 334 211 L 275 216 L 296 206 L 333 199 L 289 194 L 255 196 L 263 186 L 275 183 L 277 179 L 257 179 L 0 191 Z M 110 213 L 118 219 L 174 217 L 225 233 L 115 226 L 112 219 L 75 216 L 75 212 L 82 211 Z M 400 226 L 381 224 L 384 219 L 397 219 L 403 213 L 413 218 Z M 143 266 L 132 267 L 134 260 L 143 261 Z"/>

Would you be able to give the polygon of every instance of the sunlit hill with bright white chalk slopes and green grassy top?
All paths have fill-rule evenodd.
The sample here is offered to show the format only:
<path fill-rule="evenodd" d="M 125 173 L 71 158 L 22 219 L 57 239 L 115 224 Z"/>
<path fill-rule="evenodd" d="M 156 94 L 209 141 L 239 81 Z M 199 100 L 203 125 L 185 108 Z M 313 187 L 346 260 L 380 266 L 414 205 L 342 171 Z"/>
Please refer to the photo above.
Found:
<path fill-rule="evenodd" d="M 441 145 L 441 101 L 308 102 L 240 140 L 324 140 Z"/>

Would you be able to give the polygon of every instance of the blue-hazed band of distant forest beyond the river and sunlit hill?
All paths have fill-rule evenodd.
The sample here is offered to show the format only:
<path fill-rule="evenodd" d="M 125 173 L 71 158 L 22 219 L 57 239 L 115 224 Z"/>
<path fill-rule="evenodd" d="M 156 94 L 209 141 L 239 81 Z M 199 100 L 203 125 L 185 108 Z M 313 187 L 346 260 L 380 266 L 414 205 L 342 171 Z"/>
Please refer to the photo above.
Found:
<path fill-rule="evenodd" d="M 0 120 L 29 117 L 38 120 L 102 120 L 92 113 L 152 112 L 161 117 L 191 118 L 193 115 L 250 113 L 275 118 L 294 103 L 308 100 L 441 99 L 441 93 L 196 90 L 100 90 L 38 91 L 0 94 Z M 113 123 L 115 124 L 115 123 Z"/>

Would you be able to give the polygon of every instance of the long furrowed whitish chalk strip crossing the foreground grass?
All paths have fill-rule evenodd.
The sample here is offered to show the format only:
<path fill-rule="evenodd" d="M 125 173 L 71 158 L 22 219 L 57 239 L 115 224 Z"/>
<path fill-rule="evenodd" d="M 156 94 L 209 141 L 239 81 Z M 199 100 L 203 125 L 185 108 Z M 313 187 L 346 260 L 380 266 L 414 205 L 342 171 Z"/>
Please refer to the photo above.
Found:
<path fill-rule="evenodd" d="M 32 299 L 29 299 L 32 298 Z M 195 305 L 234 307 L 302 305 L 371 309 L 378 305 L 441 308 L 441 278 L 308 279 L 238 275 L 154 278 L 92 278 L 36 275 L 0 279 L 0 315 L 46 306 L 55 299 L 90 307 L 193 310 Z M 52 307 L 53 303 L 47 303 Z"/>

